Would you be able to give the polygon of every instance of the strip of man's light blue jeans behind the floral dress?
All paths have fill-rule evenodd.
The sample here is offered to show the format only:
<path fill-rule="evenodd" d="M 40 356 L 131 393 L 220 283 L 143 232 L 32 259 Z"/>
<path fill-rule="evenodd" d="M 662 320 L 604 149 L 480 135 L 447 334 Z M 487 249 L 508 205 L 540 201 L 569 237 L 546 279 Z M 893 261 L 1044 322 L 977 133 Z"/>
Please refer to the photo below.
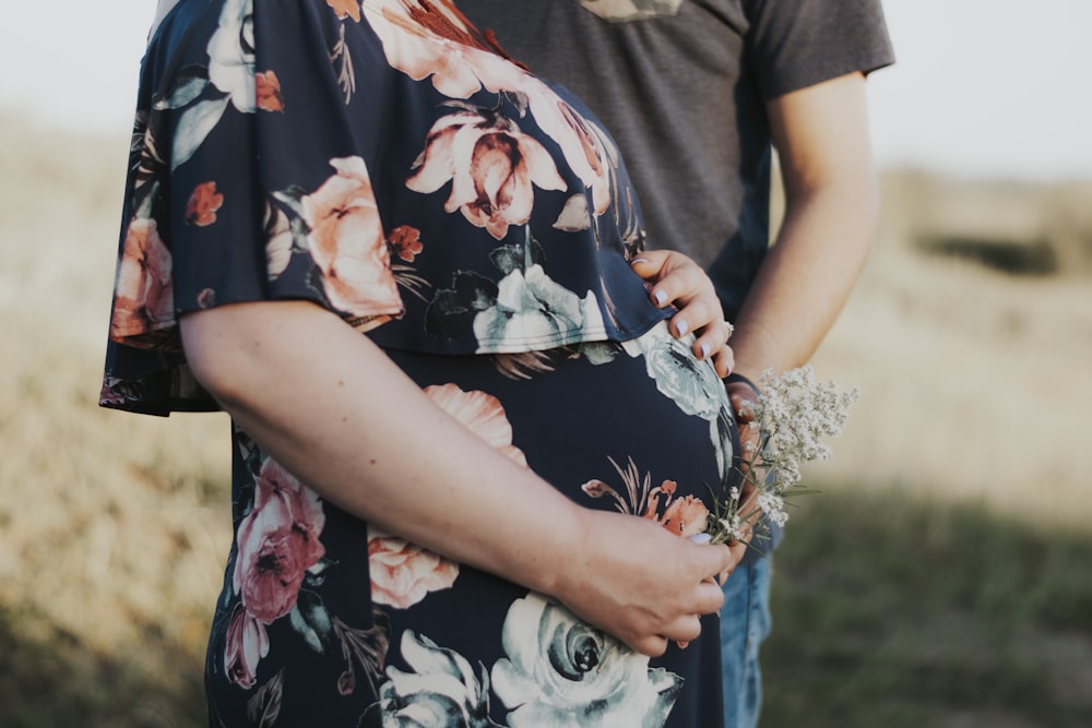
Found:
<path fill-rule="evenodd" d="M 762 705 L 758 647 L 770 634 L 770 557 L 744 559 L 723 588 L 724 728 L 755 728 Z"/>

